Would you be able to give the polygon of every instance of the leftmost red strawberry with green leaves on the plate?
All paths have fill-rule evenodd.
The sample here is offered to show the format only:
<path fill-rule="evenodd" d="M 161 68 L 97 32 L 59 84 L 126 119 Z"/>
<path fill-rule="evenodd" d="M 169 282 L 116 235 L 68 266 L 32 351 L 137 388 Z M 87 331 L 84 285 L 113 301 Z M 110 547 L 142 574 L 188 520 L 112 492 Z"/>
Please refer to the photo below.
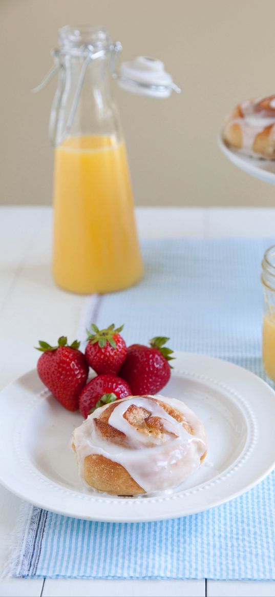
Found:
<path fill-rule="evenodd" d="M 38 375 L 54 397 L 69 411 L 78 410 L 78 399 L 85 386 L 89 367 L 84 354 L 78 350 L 80 342 L 70 346 L 67 338 L 61 336 L 58 346 L 39 341 L 43 355 L 38 359 Z"/>

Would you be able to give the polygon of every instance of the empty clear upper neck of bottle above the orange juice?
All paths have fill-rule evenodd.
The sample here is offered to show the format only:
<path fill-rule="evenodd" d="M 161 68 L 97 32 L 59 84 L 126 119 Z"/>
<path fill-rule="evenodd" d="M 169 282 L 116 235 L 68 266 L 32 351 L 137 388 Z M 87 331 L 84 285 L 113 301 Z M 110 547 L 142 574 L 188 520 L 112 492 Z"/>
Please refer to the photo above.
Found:
<path fill-rule="evenodd" d="M 50 137 L 54 145 L 69 136 L 112 136 L 120 125 L 110 91 L 115 45 L 103 29 L 63 27 L 59 32 L 58 88 L 52 104 Z"/>

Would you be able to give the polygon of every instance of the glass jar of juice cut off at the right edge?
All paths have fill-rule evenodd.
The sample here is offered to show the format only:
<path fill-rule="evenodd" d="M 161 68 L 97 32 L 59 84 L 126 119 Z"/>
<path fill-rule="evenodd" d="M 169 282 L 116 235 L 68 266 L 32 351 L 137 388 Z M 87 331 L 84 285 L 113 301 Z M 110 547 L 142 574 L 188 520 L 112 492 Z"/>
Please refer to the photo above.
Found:
<path fill-rule="evenodd" d="M 261 281 L 264 290 L 262 363 L 268 377 L 275 381 L 275 245 L 265 251 Z"/>

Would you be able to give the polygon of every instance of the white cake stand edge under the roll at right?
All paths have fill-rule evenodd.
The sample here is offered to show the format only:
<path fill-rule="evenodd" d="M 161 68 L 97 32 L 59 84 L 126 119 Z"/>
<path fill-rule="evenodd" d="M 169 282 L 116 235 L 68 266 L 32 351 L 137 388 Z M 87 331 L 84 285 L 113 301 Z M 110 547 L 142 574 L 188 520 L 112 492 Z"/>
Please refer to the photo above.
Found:
<path fill-rule="evenodd" d="M 251 176 L 264 180 L 267 183 L 275 184 L 275 160 L 249 158 L 237 150 L 229 149 L 221 137 L 218 138 L 218 145 L 224 155 L 230 159 L 235 166 L 241 168 Z"/>

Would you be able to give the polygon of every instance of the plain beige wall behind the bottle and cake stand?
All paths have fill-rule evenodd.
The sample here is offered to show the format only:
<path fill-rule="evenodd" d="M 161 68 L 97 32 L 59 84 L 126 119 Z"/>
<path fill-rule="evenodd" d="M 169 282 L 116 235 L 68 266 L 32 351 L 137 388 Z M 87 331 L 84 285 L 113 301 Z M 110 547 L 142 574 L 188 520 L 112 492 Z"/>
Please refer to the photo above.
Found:
<path fill-rule="evenodd" d="M 1 0 L 1 193 L 3 204 L 50 204 L 48 118 L 57 29 L 104 24 L 123 60 L 164 61 L 180 96 L 152 100 L 113 91 L 138 205 L 275 205 L 275 189 L 221 155 L 224 115 L 248 97 L 275 93 L 274 0 Z"/>

